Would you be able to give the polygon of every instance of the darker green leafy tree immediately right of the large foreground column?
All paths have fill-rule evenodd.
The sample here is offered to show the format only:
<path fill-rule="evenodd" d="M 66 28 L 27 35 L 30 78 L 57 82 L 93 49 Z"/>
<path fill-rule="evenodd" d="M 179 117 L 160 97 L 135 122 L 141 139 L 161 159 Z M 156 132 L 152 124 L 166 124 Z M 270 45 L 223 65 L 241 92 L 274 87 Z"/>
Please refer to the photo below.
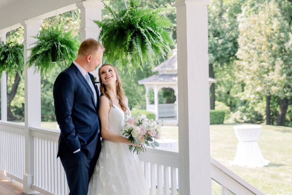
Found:
<path fill-rule="evenodd" d="M 216 85 L 223 86 L 217 93 L 219 97 L 225 97 L 219 101 L 225 101 L 228 106 L 232 105 L 230 93 L 235 84 L 233 61 L 237 59 L 235 53 L 238 49 L 239 34 L 236 16 L 241 12 L 243 2 L 242 0 L 213 0 L 208 6 L 209 76 L 217 78 Z M 214 83 L 211 85 L 210 93 L 211 109 L 214 109 Z"/>

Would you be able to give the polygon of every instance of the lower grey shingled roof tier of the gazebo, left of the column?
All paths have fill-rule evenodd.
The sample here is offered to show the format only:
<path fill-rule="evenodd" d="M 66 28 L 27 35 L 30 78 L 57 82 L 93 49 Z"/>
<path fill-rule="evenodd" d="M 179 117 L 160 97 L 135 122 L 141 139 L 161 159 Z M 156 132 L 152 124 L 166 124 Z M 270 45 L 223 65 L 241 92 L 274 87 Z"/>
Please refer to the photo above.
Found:
<path fill-rule="evenodd" d="M 154 83 L 177 83 L 177 74 L 155 74 L 148 78 L 139 80 L 141 84 L 154 84 Z"/>

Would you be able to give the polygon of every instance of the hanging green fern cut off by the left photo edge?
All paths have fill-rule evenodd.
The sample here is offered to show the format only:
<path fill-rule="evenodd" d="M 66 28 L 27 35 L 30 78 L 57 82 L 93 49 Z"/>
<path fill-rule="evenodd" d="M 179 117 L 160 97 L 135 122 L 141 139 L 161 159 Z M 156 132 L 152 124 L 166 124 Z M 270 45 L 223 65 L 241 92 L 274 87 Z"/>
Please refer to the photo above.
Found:
<path fill-rule="evenodd" d="M 23 68 L 23 44 L 0 42 L 0 73 L 21 74 Z"/>

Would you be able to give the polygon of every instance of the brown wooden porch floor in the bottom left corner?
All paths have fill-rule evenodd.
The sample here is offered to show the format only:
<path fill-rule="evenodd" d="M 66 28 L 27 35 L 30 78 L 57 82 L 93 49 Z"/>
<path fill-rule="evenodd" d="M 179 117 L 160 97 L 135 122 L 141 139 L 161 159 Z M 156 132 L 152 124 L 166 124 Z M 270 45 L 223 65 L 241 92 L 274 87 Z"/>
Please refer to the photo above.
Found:
<path fill-rule="evenodd" d="M 25 194 L 23 191 L 23 184 L 13 180 L 13 183 L 10 182 L 10 178 L 0 174 L 0 194 L 3 195 L 19 195 Z M 35 194 L 43 195 L 43 194 Z"/>

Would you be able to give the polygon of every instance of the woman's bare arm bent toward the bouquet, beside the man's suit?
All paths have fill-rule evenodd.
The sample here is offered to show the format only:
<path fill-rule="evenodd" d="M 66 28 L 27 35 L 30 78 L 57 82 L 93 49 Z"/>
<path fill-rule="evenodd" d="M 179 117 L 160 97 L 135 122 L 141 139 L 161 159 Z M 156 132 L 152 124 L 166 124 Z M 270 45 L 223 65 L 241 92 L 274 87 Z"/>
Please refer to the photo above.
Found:
<path fill-rule="evenodd" d="M 120 136 L 116 133 L 109 131 L 109 101 L 106 97 L 100 98 L 100 107 L 99 107 L 99 118 L 101 121 L 101 137 L 105 140 L 109 140 L 112 142 L 124 143 L 124 144 L 132 144 L 128 138 Z"/>

